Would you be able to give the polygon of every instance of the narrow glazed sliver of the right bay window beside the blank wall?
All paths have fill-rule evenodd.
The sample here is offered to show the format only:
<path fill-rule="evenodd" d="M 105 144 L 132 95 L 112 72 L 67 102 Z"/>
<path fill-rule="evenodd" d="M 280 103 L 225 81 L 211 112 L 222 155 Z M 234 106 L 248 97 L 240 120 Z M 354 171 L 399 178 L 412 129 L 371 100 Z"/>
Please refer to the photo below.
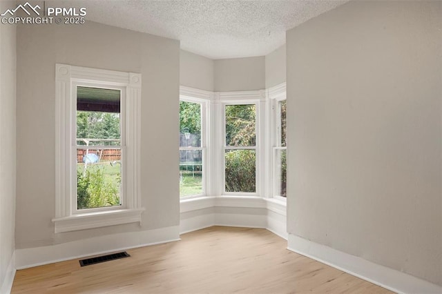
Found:
<path fill-rule="evenodd" d="M 287 197 L 287 100 L 276 101 L 276 146 L 273 147 L 273 195 Z"/>

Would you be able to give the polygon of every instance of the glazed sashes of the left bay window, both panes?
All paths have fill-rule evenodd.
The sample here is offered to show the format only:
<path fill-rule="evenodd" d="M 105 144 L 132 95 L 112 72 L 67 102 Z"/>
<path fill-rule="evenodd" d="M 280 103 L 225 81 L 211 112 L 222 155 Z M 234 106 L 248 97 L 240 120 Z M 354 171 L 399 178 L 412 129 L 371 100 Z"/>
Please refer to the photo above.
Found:
<path fill-rule="evenodd" d="M 204 195 L 204 105 L 180 101 L 180 197 Z"/>

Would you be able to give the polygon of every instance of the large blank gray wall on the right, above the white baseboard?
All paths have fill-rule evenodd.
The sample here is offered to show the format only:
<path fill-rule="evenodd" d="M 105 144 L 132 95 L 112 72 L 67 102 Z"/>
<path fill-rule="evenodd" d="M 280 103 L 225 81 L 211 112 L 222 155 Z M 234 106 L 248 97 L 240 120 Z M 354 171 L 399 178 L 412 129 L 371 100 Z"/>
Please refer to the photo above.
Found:
<path fill-rule="evenodd" d="M 287 32 L 288 231 L 442 285 L 442 2 Z"/>

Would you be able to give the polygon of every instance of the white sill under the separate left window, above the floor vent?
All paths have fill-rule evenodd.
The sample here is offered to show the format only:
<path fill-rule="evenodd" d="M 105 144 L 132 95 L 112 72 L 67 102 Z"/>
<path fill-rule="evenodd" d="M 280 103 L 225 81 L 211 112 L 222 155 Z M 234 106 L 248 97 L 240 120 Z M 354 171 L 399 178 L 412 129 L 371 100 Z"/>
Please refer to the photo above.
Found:
<path fill-rule="evenodd" d="M 141 214 L 143 211 L 144 208 L 81 213 L 68 217 L 56 217 L 52 219 L 52 222 L 55 224 L 55 233 L 64 233 L 86 230 L 88 228 L 101 228 L 103 226 L 141 222 Z"/>

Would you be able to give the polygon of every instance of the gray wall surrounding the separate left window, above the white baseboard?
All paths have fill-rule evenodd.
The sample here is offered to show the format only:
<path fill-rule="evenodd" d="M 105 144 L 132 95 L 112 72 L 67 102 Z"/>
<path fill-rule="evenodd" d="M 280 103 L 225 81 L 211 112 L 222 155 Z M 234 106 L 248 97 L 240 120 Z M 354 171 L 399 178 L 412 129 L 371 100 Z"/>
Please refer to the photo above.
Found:
<path fill-rule="evenodd" d="M 178 226 L 180 43 L 88 21 L 17 29 L 17 248 Z M 142 74 L 142 226 L 54 234 L 55 63 Z"/>

